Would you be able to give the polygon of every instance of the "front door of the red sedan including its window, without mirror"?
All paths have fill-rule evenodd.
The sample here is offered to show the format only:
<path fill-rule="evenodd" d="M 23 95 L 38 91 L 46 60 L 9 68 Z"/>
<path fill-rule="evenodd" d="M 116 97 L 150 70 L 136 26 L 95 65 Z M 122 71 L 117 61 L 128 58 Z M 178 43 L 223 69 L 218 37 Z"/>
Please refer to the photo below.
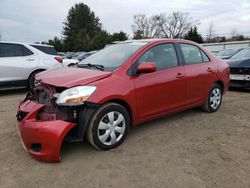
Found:
<path fill-rule="evenodd" d="M 154 62 L 156 72 L 137 75 L 134 79 L 139 119 L 160 115 L 184 105 L 186 82 L 172 43 L 147 50 L 137 63 Z"/>

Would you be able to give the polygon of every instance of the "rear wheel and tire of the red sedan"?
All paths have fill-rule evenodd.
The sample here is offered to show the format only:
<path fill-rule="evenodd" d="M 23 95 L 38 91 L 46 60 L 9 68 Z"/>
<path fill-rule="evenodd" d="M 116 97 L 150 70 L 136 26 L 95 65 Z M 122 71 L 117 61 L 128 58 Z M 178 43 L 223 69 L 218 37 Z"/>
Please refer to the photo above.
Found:
<path fill-rule="evenodd" d="M 206 103 L 203 105 L 202 109 L 205 112 L 216 112 L 221 105 L 222 102 L 222 88 L 218 84 L 214 84 L 208 94 Z"/>

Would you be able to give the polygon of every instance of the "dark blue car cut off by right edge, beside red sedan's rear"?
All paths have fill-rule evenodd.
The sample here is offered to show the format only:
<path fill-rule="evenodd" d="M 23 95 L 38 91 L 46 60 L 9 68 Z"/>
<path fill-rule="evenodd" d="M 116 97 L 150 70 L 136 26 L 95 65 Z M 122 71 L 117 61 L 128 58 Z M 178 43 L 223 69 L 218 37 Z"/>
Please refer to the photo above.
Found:
<path fill-rule="evenodd" d="M 230 86 L 250 88 L 250 48 L 244 48 L 227 63 L 230 66 Z"/>

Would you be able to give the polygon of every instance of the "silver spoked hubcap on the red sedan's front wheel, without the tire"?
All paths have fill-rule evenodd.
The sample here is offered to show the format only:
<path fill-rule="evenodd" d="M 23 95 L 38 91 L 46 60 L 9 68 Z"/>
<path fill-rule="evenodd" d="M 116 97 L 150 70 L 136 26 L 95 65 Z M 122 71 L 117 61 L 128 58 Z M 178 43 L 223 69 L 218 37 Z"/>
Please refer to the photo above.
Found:
<path fill-rule="evenodd" d="M 113 145 L 121 140 L 125 133 L 126 121 L 117 111 L 105 114 L 98 125 L 98 139 L 104 145 Z"/>

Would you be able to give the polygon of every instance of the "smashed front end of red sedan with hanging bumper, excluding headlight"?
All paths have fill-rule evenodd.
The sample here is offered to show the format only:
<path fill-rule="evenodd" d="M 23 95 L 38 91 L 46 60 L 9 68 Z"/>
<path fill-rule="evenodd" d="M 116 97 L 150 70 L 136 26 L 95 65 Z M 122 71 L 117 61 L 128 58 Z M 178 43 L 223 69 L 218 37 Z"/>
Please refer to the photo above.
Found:
<path fill-rule="evenodd" d="M 66 88 L 40 84 L 19 104 L 17 127 L 26 151 L 34 158 L 60 161 L 62 142 L 81 141 L 96 105 L 59 106 L 57 97 Z"/>

